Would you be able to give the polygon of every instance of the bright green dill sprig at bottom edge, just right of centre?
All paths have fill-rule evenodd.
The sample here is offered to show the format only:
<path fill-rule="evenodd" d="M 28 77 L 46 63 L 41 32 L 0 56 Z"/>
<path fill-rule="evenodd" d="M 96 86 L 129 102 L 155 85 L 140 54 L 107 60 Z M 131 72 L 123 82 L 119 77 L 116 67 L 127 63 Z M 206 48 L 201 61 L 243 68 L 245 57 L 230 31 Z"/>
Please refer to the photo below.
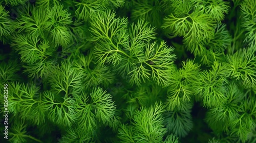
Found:
<path fill-rule="evenodd" d="M 156 103 L 155 106 L 148 109 L 137 110 L 134 114 L 134 122 L 131 125 L 121 126 L 118 134 L 121 142 L 166 142 L 162 141 L 166 132 L 166 128 L 162 124 L 162 112 L 162 103 Z"/>

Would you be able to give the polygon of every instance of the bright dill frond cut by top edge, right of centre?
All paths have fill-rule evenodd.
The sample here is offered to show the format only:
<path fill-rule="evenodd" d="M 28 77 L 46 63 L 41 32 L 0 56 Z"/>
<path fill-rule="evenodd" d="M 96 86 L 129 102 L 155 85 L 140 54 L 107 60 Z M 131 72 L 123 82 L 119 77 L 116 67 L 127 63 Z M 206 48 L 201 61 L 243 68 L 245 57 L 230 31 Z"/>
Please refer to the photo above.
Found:
<path fill-rule="evenodd" d="M 225 26 L 220 25 L 224 20 L 224 14 L 228 11 L 228 3 L 221 0 L 168 2 L 168 6 L 173 11 L 164 18 L 162 28 L 166 30 L 166 35 L 182 36 L 187 49 L 195 56 L 201 57 L 203 64 L 212 64 L 214 56 L 221 59 L 222 52 L 231 42 L 229 33 L 222 28 Z M 218 40 L 225 42 L 223 50 L 217 51 L 216 45 L 212 45 Z"/>

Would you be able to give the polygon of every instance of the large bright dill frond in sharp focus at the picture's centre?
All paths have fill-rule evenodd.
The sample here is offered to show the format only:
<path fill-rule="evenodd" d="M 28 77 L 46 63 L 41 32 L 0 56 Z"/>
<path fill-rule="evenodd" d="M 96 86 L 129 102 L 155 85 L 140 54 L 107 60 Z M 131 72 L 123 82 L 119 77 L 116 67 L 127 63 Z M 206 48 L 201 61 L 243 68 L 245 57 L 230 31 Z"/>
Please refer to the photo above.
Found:
<path fill-rule="evenodd" d="M 98 63 L 112 64 L 123 77 L 129 75 L 132 85 L 154 80 L 167 86 L 175 58 L 173 48 L 164 41 L 150 43 L 155 39 L 154 28 L 146 25 L 147 22 L 139 20 L 129 30 L 126 18 L 115 18 L 112 11 L 99 12 L 90 29 L 90 40 L 98 41 L 95 57 Z"/>

